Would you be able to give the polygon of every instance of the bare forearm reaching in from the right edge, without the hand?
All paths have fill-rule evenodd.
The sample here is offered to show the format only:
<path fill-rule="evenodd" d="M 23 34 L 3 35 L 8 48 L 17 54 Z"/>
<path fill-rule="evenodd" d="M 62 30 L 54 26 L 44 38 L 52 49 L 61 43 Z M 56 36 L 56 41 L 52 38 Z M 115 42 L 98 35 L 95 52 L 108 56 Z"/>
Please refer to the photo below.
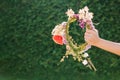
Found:
<path fill-rule="evenodd" d="M 99 42 L 96 43 L 94 46 L 120 56 L 120 43 L 115 43 L 104 39 L 100 39 Z"/>

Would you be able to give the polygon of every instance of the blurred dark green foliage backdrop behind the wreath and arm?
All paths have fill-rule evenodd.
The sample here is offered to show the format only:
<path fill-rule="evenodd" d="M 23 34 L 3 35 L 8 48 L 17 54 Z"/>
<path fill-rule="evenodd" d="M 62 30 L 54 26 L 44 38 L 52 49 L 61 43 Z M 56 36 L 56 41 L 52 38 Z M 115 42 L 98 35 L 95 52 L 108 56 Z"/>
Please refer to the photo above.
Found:
<path fill-rule="evenodd" d="M 120 80 L 120 57 L 96 47 L 88 53 L 97 72 L 71 56 L 59 62 L 65 46 L 52 41 L 51 31 L 67 21 L 68 8 L 84 6 L 100 37 L 120 42 L 120 0 L 0 0 L 0 80 Z M 78 42 L 80 31 L 72 30 Z"/>

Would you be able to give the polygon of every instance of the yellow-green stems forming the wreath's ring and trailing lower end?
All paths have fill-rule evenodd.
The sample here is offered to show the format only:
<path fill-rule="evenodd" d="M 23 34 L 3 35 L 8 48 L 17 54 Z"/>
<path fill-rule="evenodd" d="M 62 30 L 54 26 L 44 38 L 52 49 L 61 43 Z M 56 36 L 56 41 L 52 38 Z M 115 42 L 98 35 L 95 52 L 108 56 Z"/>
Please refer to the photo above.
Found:
<path fill-rule="evenodd" d="M 74 45 L 73 43 L 73 40 L 72 40 L 72 37 L 69 35 L 69 24 L 71 23 L 71 21 L 68 21 L 67 22 L 67 25 L 66 25 L 66 40 L 67 40 L 67 44 L 66 45 L 69 45 L 69 47 L 72 49 L 73 53 L 75 53 L 77 56 L 75 57 L 80 57 L 80 59 L 84 59 L 84 57 L 81 56 L 81 54 L 83 52 L 81 52 L 81 54 L 79 54 L 80 51 L 82 50 L 85 50 L 86 48 L 86 45 L 88 45 L 87 42 L 85 42 L 84 44 L 80 45 L 80 46 L 77 46 L 77 45 Z M 90 25 L 89 24 L 86 24 L 86 29 L 91 29 Z M 90 69 L 93 69 L 94 71 L 96 71 L 96 68 L 95 66 L 93 65 L 93 63 L 91 62 L 90 58 L 87 58 L 87 61 L 89 63 L 88 67 Z"/>

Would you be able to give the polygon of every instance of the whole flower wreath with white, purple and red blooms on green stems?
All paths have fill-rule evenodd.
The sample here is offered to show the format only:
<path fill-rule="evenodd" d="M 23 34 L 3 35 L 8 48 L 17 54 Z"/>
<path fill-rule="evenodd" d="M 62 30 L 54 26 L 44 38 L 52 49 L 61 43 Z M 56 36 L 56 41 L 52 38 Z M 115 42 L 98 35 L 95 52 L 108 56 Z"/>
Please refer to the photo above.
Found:
<path fill-rule="evenodd" d="M 86 42 L 81 45 L 78 45 L 77 43 L 75 44 L 74 40 L 69 35 L 70 23 L 73 23 L 75 21 L 79 23 L 79 26 L 82 29 L 93 29 L 93 13 L 89 12 L 88 7 L 85 6 L 83 9 L 79 10 L 78 14 L 75 14 L 72 9 L 68 9 L 66 14 L 68 16 L 68 21 L 56 25 L 55 28 L 52 30 L 53 41 L 59 45 L 66 45 L 66 53 L 62 57 L 60 62 L 63 62 L 64 58 L 68 58 L 68 55 L 72 55 L 74 60 L 78 60 L 79 62 L 82 62 L 85 66 L 96 71 L 95 66 L 90 60 L 88 53 L 86 52 L 89 48 L 91 48 L 91 45 Z"/>

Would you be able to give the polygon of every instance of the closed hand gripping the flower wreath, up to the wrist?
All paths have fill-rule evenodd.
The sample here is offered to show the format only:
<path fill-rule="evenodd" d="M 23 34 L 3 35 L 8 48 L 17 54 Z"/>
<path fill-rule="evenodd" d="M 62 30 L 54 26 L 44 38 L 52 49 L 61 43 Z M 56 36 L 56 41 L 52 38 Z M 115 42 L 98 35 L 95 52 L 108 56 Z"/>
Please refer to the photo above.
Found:
<path fill-rule="evenodd" d="M 84 35 L 85 41 L 90 44 L 90 45 L 96 45 L 100 37 L 98 35 L 98 31 L 96 29 L 93 30 L 86 30 L 85 35 Z"/>

